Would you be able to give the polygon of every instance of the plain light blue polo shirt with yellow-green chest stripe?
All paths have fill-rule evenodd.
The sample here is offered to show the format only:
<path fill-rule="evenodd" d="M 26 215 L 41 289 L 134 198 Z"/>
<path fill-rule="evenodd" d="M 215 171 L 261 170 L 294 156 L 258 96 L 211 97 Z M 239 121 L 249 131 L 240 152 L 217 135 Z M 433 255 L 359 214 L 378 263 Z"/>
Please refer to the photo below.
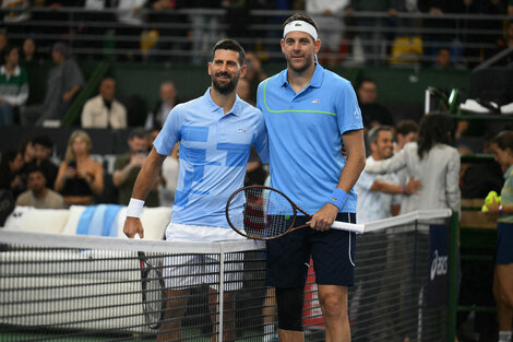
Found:
<path fill-rule="evenodd" d="M 329 202 L 345 165 L 342 134 L 363 128 L 351 84 L 317 63 L 310 84 L 296 94 L 284 70 L 260 83 L 256 107 L 267 127 L 271 187 L 315 213 Z M 356 202 L 351 189 L 341 212 L 356 212 Z"/>

